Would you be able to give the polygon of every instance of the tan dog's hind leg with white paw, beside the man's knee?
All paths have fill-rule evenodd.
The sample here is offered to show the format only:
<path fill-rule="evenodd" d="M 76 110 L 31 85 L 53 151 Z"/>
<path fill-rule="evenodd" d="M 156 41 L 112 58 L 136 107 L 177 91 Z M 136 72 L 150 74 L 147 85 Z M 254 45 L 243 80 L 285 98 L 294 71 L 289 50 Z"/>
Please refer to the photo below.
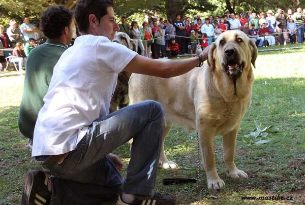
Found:
<path fill-rule="evenodd" d="M 166 124 L 166 122 L 163 123 L 163 140 L 162 140 L 162 145 L 161 145 L 159 166 L 161 166 L 165 169 L 178 168 L 178 164 L 176 164 L 173 161 L 169 161 L 164 153 L 164 141 L 172 126 L 173 126 L 173 124 L 171 124 L 171 123 L 169 123 L 169 124 Z"/>

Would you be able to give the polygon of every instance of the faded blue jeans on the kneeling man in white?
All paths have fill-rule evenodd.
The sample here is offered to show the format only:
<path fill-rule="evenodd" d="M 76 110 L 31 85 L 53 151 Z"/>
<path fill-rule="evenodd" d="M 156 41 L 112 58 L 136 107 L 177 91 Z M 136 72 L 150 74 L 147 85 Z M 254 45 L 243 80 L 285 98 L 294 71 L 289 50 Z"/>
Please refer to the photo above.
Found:
<path fill-rule="evenodd" d="M 93 204 L 121 192 L 148 198 L 156 184 L 162 144 L 162 105 L 146 100 L 95 120 L 63 163 L 44 168 L 52 178 L 51 204 Z M 106 157 L 133 138 L 123 181 Z"/>

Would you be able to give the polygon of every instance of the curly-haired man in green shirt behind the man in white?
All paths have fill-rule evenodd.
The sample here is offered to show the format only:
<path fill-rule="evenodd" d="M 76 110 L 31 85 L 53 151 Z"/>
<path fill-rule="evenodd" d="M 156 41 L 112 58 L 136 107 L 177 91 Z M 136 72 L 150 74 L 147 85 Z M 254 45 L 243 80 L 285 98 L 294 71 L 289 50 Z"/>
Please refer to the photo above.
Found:
<path fill-rule="evenodd" d="M 48 39 L 28 55 L 18 117 L 19 130 L 29 138 L 29 146 L 33 143 L 36 120 L 44 105 L 43 97 L 48 91 L 53 68 L 71 42 L 72 19 L 73 12 L 64 6 L 51 6 L 40 16 L 42 31 Z"/>

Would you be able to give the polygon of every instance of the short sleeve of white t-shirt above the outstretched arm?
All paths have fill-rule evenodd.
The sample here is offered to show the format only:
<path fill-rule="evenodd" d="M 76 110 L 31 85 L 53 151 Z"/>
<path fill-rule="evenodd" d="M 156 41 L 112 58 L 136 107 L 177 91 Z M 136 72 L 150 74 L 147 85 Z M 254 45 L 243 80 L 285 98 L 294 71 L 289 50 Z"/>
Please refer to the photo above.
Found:
<path fill-rule="evenodd" d="M 97 60 L 103 61 L 115 73 L 120 73 L 126 65 L 137 55 L 126 46 L 102 39 L 98 43 Z"/>

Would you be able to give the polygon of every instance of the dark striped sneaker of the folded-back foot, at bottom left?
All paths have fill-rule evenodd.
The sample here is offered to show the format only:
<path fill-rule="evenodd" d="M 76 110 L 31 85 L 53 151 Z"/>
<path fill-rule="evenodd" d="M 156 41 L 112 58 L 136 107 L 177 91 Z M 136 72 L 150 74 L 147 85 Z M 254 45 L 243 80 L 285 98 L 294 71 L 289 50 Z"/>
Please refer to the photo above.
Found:
<path fill-rule="evenodd" d="M 21 205 L 50 204 L 48 178 L 40 171 L 29 171 L 24 180 Z"/>

